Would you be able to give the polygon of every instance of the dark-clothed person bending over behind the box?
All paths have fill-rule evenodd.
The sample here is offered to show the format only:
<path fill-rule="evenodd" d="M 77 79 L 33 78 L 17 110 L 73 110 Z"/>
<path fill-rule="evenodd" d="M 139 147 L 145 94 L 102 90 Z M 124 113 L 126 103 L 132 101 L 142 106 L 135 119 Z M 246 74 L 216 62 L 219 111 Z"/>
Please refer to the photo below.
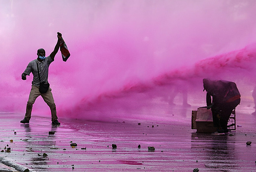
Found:
<path fill-rule="evenodd" d="M 218 130 L 213 135 L 228 134 L 228 120 L 234 108 L 240 104 L 240 93 L 231 81 L 203 79 L 207 108 L 213 113 L 213 124 Z M 213 97 L 213 101 L 211 100 Z"/>

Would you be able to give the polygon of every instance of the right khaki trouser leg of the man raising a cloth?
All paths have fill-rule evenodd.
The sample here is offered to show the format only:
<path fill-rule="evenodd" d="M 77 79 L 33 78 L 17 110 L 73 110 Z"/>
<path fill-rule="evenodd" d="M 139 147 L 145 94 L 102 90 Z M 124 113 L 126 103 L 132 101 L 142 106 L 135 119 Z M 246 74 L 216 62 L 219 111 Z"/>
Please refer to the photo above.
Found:
<path fill-rule="evenodd" d="M 57 117 L 57 111 L 56 111 L 56 105 L 54 103 L 54 99 L 52 96 L 52 89 L 49 87 L 48 91 L 46 93 L 41 94 L 43 100 L 46 102 L 46 104 L 50 107 L 51 114 L 52 114 L 52 122 L 54 122 Z"/>

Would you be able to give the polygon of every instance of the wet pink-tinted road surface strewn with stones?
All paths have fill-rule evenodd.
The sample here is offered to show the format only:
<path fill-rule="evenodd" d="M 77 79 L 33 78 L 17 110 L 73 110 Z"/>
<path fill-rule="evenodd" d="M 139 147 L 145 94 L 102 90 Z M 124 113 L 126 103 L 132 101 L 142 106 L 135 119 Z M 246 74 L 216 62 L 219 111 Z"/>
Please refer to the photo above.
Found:
<path fill-rule="evenodd" d="M 176 117 L 175 112 L 169 115 Z M 243 127 L 212 136 L 191 130 L 189 115 L 176 117 L 184 123 L 168 124 L 60 119 L 61 126 L 56 127 L 47 118 L 33 117 L 30 124 L 20 124 L 22 115 L 1 113 L 0 148 L 8 144 L 11 153 L 0 152 L 0 157 L 37 172 L 255 172 L 255 116 L 237 114 Z M 247 146 L 247 141 L 252 144 Z"/>

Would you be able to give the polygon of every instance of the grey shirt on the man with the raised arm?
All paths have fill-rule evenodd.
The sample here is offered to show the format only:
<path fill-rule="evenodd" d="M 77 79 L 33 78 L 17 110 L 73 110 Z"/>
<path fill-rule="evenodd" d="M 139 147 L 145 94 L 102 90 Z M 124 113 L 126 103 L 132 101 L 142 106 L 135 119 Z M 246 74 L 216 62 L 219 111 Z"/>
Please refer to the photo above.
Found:
<path fill-rule="evenodd" d="M 48 82 L 48 72 L 49 72 L 49 66 L 53 62 L 50 55 L 43 59 L 42 62 L 39 62 L 37 59 L 29 62 L 27 68 L 25 69 L 24 73 L 29 75 L 31 72 L 33 74 L 33 81 L 32 85 L 39 86 L 39 76 L 37 72 L 37 64 L 39 68 L 39 74 L 40 74 L 40 80 L 41 82 Z"/>

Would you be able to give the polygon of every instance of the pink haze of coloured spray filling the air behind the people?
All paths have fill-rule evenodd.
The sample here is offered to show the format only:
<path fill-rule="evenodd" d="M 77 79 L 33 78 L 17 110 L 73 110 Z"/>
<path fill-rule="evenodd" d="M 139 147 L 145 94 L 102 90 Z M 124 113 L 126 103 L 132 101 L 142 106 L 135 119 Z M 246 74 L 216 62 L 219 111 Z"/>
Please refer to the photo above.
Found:
<path fill-rule="evenodd" d="M 33 75 L 21 80 L 37 49 L 50 55 L 59 117 L 169 121 L 183 96 L 205 106 L 202 79 L 234 81 L 241 106 L 253 102 L 254 0 L 0 0 L 0 111 L 25 113 Z M 186 96 L 187 95 L 187 96 Z M 177 108 L 178 107 L 178 108 Z M 34 115 L 49 117 L 39 97 Z M 23 115 L 21 115 L 23 117 Z M 22 118 L 21 117 L 21 118 Z"/>

